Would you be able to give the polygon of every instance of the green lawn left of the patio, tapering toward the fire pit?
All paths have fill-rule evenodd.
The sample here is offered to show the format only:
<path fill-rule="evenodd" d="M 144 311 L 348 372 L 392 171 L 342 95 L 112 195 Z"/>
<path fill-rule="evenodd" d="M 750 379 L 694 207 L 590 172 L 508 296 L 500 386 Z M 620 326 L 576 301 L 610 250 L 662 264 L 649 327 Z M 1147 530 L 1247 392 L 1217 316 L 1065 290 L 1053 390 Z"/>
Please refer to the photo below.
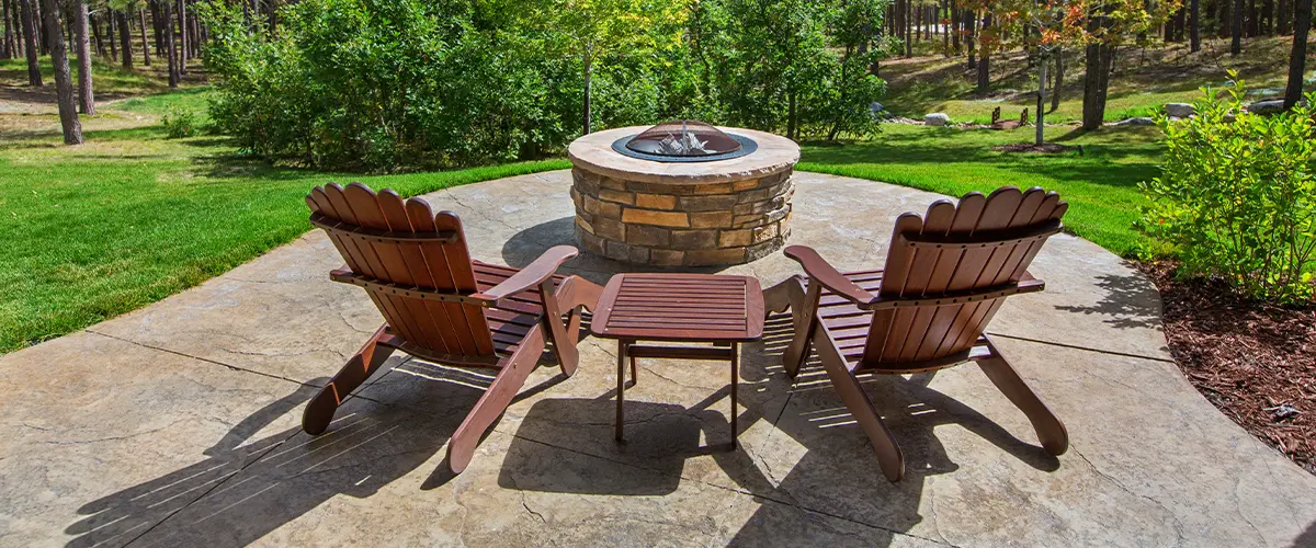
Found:
<path fill-rule="evenodd" d="M 359 180 L 412 196 L 570 166 L 384 176 L 274 167 L 213 135 L 166 139 L 157 114 L 199 101 L 204 91 L 116 103 L 84 118 L 83 146 L 63 146 L 57 127 L 4 139 L 0 352 L 158 301 L 292 240 L 309 229 L 303 197 L 315 185 Z M 11 120 L 0 116 L 0 130 Z"/>

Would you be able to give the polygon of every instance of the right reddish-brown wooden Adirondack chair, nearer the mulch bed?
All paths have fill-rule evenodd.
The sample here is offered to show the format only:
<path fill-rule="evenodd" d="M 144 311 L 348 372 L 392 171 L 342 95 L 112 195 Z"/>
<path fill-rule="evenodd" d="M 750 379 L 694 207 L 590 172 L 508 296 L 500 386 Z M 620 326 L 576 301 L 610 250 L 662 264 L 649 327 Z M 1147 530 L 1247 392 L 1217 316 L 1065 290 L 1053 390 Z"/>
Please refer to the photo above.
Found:
<path fill-rule="evenodd" d="M 1069 435 L 984 335 L 1005 297 L 1040 292 L 1028 273 L 1037 251 L 1061 230 L 1069 205 L 1054 192 L 1005 187 L 991 196 L 938 200 L 925 217 L 896 218 L 880 271 L 837 272 L 804 246 L 786 248 L 808 273 L 765 292 L 770 311 L 792 310 L 795 336 L 783 355 L 794 377 L 809 344 L 891 481 L 904 476 L 904 456 L 865 396 L 855 375 L 920 373 L 976 361 L 1037 431 L 1053 455 Z"/>

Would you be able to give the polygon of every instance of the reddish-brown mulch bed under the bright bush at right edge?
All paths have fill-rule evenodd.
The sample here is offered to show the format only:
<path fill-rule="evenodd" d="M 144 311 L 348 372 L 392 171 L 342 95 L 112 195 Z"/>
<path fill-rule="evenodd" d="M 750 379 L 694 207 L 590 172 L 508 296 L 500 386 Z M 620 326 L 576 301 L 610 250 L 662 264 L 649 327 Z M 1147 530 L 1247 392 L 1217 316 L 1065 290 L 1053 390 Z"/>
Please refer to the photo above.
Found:
<path fill-rule="evenodd" d="M 1316 473 L 1316 305 L 1291 309 L 1140 264 L 1161 290 L 1165 334 L 1183 375 L 1225 415 Z"/>

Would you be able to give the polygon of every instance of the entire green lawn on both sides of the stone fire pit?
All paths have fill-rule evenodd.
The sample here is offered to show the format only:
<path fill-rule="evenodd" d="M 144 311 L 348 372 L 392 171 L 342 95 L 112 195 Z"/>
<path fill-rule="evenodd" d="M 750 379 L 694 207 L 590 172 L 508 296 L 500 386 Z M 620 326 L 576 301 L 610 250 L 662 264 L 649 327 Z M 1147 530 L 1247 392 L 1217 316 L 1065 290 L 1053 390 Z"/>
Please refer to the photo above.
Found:
<path fill-rule="evenodd" d="M 22 68 L 0 62 L 0 87 L 20 97 L 9 105 L 53 95 L 53 85 L 22 87 Z M 158 301 L 290 242 L 309 227 L 301 198 L 317 184 L 361 180 L 417 194 L 569 167 L 559 159 L 387 176 L 271 167 L 221 137 L 164 138 L 159 117 L 171 108 L 195 110 L 205 122 L 209 89 L 141 95 L 162 89 L 157 75 L 105 63 L 96 71 L 99 96 L 130 99 L 83 117 L 86 145 L 63 146 L 58 117 L 42 112 L 39 99 L 28 104 L 36 110 L 0 109 L 0 352 Z M 1158 130 L 1069 131 L 1051 127 L 1048 135 L 1083 145 L 1082 156 L 991 150 L 1029 141 L 1029 129 L 887 125 L 871 141 L 805 145 L 799 168 L 953 196 L 1040 185 L 1070 201 L 1066 221 L 1076 234 L 1121 255 L 1158 251 L 1132 229 L 1144 200 L 1136 184 L 1155 175 Z"/>

